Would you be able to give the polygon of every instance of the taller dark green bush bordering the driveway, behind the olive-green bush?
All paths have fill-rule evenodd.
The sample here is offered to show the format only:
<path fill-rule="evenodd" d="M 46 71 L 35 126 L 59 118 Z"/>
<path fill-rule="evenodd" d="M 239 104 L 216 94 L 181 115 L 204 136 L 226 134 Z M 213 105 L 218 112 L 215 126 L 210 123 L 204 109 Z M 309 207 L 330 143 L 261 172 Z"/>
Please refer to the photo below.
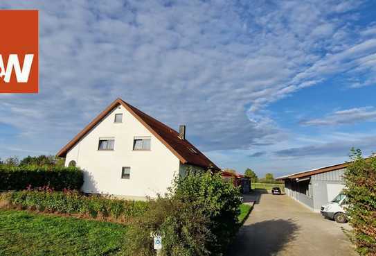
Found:
<path fill-rule="evenodd" d="M 174 196 L 192 204 L 193 210 L 202 212 L 210 219 L 209 229 L 214 239 L 207 245 L 212 253 L 226 248 L 238 231 L 239 206 L 242 197 L 232 182 L 211 173 L 190 174 L 177 180 Z"/>

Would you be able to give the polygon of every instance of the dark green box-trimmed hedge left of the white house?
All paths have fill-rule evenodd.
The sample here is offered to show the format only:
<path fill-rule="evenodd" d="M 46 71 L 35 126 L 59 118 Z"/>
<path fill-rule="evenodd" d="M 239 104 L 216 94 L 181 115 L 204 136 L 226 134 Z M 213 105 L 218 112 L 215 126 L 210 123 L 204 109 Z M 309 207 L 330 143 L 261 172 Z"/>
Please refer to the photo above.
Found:
<path fill-rule="evenodd" d="M 49 186 L 55 190 L 80 189 L 83 173 L 76 167 L 0 165 L 0 191 Z"/>

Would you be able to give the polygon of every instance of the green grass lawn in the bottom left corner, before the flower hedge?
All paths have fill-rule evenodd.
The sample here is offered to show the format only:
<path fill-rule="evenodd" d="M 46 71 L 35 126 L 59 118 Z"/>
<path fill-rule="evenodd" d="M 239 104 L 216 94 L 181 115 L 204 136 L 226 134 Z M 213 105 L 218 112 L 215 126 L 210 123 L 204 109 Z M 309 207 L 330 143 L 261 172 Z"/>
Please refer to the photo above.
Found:
<path fill-rule="evenodd" d="M 0 210 L 0 255 L 119 255 L 124 225 Z"/>

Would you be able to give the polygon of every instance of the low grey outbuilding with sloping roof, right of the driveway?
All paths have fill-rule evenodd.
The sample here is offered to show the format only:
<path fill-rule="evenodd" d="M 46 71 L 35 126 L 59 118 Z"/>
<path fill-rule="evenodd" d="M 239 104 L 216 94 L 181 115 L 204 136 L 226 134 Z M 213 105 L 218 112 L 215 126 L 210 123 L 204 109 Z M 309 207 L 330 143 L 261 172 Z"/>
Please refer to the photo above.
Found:
<path fill-rule="evenodd" d="M 334 199 L 345 187 L 343 173 L 348 163 L 336 164 L 311 171 L 302 171 L 277 180 L 285 181 L 285 193 L 314 212 Z"/>

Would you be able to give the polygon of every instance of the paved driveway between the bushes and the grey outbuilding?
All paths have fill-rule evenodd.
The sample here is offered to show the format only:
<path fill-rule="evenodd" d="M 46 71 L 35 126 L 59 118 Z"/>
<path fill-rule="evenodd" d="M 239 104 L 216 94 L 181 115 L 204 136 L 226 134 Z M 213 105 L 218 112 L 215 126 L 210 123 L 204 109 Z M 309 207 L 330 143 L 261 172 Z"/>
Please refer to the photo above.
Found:
<path fill-rule="evenodd" d="M 256 200 L 228 255 L 352 256 L 357 255 L 339 224 L 323 219 L 288 196 L 257 192 Z"/>

